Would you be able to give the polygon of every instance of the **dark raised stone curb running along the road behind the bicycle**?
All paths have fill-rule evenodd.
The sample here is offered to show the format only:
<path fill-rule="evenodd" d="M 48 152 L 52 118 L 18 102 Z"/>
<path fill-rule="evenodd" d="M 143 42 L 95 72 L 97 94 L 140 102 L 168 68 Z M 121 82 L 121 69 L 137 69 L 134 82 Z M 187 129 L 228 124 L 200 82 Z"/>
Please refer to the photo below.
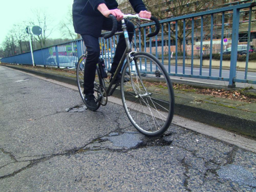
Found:
<path fill-rule="evenodd" d="M 51 75 L 48 73 L 42 73 L 37 71 L 32 71 L 29 69 L 16 68 L 12 66 L 6 66 L 12 69 L 18 69 L 20 71 L 33 73 L 34 75 L 42 76 L 45 78 L 50 78 L 56 81 L 65 82 L 71 85 L 77 85 L 76 79 L 71 77 L 63 77 L 58 75 Z M 115 92 L 113 94 L 115 97 L 120 97 L 120 94 Z M 183 100 L 181 102 L 181 100 Z M 232 108 L 223 108 L 223 112 L 216 112 L 212 110 L 212 108 L 207 108 L 207 104 L 199 104 L 197 106 L 193 106 L 192 103 L 184 102 L 185 99 L 177 99 L 175 98 L 175 115 L 179 115 L 188 119 L 192 119 L 194 121 L 199 121 L 201 123 L 205 123 L 211 126 L 216 126 L 219 128 L 223 128 L 229 131 L 233 131 L 236 133 L 243 134 L 245 136 L 250 136 L 256 138 L 256 118 L 255 120 L 250 120 L 243 118 L 242 114 L 228 115 L 232 114 L 231 111 L 234 111 Z M 222 111 L 222 107 L 218 106 L 218 109 Z M 240 113 L 246 113 L 241 112 Z M 248 112 L 247 112 L 248 113 Z"/>

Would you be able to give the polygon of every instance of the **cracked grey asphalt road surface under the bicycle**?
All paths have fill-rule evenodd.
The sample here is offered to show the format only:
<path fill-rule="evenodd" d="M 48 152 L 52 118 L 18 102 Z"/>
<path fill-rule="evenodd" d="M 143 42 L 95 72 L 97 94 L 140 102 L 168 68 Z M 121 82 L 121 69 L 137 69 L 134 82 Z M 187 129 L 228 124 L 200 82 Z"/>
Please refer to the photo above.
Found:
<path fill-rule="evenodd" d="M 123 107 L 0 67 L 0 191 L 256 191 L 256 155 L 172 124 L 147 138 Z"/>

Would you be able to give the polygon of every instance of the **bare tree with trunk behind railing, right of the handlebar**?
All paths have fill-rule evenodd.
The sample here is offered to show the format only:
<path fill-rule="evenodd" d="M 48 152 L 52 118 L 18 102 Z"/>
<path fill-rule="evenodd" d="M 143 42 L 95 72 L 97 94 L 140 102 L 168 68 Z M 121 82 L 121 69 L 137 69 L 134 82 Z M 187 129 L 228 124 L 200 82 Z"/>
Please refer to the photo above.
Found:
<path fill-rule="evenodd" d="M 125 13 L 133 13 L 133 10 L 131 6 L 129 5 L 128 1 L 119 0 L 118 1 L 119 8 Z M 152 13 L 152 15 L 156 16 L 159 20 L 167 19 L 167 18 L 176 18 L 177 16 L 186 15 L 186 14 L 192 14 L 199 11 L 205 11 L 212 8 L 217 8 L 219 3 L 217 1 L 209 1 L 209 0 L 144 0 L 144 4 L 148 11 Z M 185 38 L 189 36 L 189 34 L 192 32 L 191 29 L 188 26 L 191 26 L 191 20 L 185 20 L 185 26 L 187 27 Z M 173 40 L 176 40 L 175 32 L 176 23 L 171 24 L 172 26 L 169 28 L 168 24 L 164 26 L 163 33 L 167 36 L 168 31 L 172 32 L 170 34 L 171 38 Z M 179 20 L 177 21 L 177 27 L 178 27 L 178 34 L 177 34 L 177 42 L 178 42 L 178 50 L 181 51 L 181 45 L 183 43 L 183 21 Z M 194 23 L 194 28 L 198 28 L 200 25 L 198 25 L 196 22 Z M 206 25 L 207 26 L 207 25 Z M 154 29 L 153 29 L 154 30 Z M 141 33 L 144 33 L 144 29 L 141 29 Z M 141 38 L 144 38 L 144 36 L 141 36 Z M 144 39 L 142 39 L 142 44 L 144 42 Z"/>

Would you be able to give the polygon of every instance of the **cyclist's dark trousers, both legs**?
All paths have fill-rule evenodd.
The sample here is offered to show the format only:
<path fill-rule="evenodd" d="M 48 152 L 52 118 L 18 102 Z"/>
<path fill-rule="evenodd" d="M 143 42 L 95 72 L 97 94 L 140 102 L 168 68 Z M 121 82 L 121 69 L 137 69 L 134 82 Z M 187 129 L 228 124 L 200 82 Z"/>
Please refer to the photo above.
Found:
<path fill-rule="evenodd" d="M 132 41 L 133 32 L 134 32 L 134 25 L 131 21 L 125 20 L 127 25 L 127 31 L 129 34 L 129 40 Z M 106 18 L 106 22 L 104 22 L 102 30 L 111 30 L 112 29 L 112 21 Z M 121 21 L 118 22 L 118 29 L 119 31 L 122 30 L 122 23 Z M 85 60 L 85 69 L 84 69 L 84 94 L 93 94 L 94 88 L 94 79 L 96 75 L 96 64 L 99 60 L 99 39 L 98 37 L 90 36 L 88 34 L 81 34 L 85 46 L 86 46 L 86 60 Z M 119 36 L 118 45 L 116 46 L 115 57 L 114 61 L 111 66 L 111 72 L 115 72 L 118 64 L 123 56 L 125 51 L 126 44 L 124 35 Z"/>

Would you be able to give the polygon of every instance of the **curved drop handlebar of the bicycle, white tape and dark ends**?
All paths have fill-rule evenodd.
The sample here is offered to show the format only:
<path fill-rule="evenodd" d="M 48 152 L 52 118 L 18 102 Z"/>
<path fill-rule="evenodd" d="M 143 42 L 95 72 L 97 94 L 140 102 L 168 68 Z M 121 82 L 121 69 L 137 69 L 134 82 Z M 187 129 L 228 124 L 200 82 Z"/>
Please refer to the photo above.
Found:
<path fill-rule="evenodd" d="M 109 18 L 112 19 L 113 27 L 112 27 L 112 30 L 111 30 L 110 33 L 105 34 L 105 36 L 104 36 L 105 39 L 114 36 L 114 34 L 116 33 L 116 28 L 118 26 L 118 21 L 116 20 L 114 15 L 110 14 Z M 159 20 L 157 18 L 155 18 L 154 16 L 151 16 L 150 19 L 144 19 L 144 18 L 140 18 L 140 16 L 138 16 L 138 14 L 136 14 L 136 15 L 128 14 L 128 15 L 124 15 L 124 18 L 136 18 L 136 19 L 139 19 L 139 20 L 146 20 L 146 21 L 152 20 L 152 21 L 155 21 L 155 27 L 156 27 L 155 31 L 153 33 L 147 34 L 147 37 L 153 37 L 153 36 L 156 36 L 159 33 L 160 23 L 159 23 Z"/>

